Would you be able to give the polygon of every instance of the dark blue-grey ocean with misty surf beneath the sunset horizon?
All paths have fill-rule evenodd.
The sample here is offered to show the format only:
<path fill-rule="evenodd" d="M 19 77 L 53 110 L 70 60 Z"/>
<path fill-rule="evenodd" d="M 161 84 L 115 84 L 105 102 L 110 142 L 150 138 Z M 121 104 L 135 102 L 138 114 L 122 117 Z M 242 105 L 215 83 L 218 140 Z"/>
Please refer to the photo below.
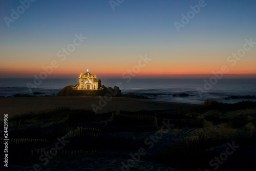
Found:
<path fill-rule="evenodd" d="M 204 88 L 203 78 L 101 78 L 101 84 L 105 87 L 114 87 L 122 83 L 123 94 L 133 92 L 135 94 L 157 93 L 157 96 L 146 94 L 158 101 L 172 101 L 202 104 L 206 100 L 217 100 L 224 103 L 236 103 L 242 100 L 256 101 L 256 99 L 231 99 L 231 95 L 246 96 L 256 95 L 256 79 L 231 79 L 223 78 L 213 85 Z M 206 79 L 209 82 L 209 79 Z M 33 84 L 33 79 L 0 79 L 0 96 L 13 96 L 14 94 L 31 94 L 33 92 L 44 93 L 42 95 L 57 94 L 68 85 L 75 85 L 78 79 L 53 79 L 42 80 L 41 84 L 30 91 L 27 83 Z M 209 87 L 212 86 L 212 87 Z M 120 86 L 121 87 L 121 86 Z M 198 87 L 200 90 L 198 91 Z M 187 93 L 189 96 L 174 94 Z M 145 95 L 145 94 L 144 94 Z"/>

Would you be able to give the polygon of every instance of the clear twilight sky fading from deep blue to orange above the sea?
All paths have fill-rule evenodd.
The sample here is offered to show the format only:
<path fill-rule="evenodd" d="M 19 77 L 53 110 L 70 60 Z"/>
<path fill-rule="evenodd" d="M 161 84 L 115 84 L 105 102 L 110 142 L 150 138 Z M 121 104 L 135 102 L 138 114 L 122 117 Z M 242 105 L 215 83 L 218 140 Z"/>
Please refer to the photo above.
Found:
<path fill-rule="evenodd" d="M 87 69 L 102 77 L 256 78 L 255 7 L 249 0 L 0 0 L 0 78 L 72 78 Z"/>

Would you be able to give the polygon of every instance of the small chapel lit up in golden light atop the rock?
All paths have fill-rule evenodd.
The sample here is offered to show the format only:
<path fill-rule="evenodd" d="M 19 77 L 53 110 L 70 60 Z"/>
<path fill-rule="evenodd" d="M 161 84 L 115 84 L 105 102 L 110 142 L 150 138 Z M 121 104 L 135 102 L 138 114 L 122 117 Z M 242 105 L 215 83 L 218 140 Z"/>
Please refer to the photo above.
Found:
<path fill-rule="evenodd" d="M 80 74 L 79 84 L 76 86 L 78 90 L 97 90 L 101 89 L 101 81 L 96 79 L 96 75 L 92 75 L 87 69 L 86 74 Z"/>

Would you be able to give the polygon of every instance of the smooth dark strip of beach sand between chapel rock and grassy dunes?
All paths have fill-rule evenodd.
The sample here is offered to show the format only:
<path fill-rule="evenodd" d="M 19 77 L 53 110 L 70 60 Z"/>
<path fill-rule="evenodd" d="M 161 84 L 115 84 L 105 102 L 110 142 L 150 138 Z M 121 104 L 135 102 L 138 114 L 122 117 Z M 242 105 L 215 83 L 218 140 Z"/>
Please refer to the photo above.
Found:
<path fill-rule="evenodd" d="M 106 101 L 104 101 L 106 102 Z M 94 104 L 94 105 L 93 105 Z M 103 103 L 99 96 L 53 96 L 53 97 L 1 97 L 0 112 L 8 113 L 9 116 L 24 114 L 28 112 L 44 112 L 58 107 L 70 109 L 88 109 L 97 113 L 110 111 L 140 111 L 140 110 L 167 110 L 167 109 L 188 109 L 195 104 L 161 102 L 144 99 L 132 99 L 127 97 L 112 97 L 109 102 Z"/>

